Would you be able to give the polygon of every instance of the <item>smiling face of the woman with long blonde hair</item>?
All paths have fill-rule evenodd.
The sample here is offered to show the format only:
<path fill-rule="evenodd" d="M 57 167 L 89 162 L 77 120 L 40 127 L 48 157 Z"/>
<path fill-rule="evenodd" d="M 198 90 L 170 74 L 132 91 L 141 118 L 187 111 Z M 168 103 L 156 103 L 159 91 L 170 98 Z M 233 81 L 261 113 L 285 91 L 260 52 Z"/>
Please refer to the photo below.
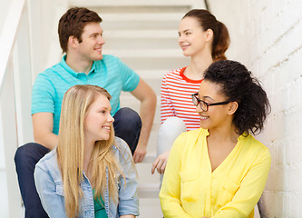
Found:
<path fill-rule="evenodd" d="M 86 143 L 108 140 L 114 121 L 110 114 L 112 107 L 108 98 L 98 94 L 89 108 L 84 120 L 84 137 Z"/>

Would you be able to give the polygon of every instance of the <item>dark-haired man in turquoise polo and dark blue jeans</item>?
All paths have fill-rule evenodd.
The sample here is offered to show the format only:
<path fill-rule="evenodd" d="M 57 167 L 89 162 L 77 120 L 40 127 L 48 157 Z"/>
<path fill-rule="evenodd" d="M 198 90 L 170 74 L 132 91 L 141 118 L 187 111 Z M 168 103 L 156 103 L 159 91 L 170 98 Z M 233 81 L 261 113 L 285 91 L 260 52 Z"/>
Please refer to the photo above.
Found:
<path fill-rule="evenodd" d="M 59 21 L 62 61 L 38 74 L 32 96 L 34 144 L 25 144 L 15 154 L 25 217 L 47 217 L 34 186 L 34 166 L 54 149 L 63 94 L 74 84 L 95 84 L 112 95 L 115 134 L 129 144 L 135 163 L 142 161 L 151 132 L 156 95 L 139 75 L 120 59 L 102 55 L 102 19 L 83 7 L 69 9 Z M 141 118 L 130 108 L 120 108 L 121 92 L 131 92 L 141 101 Z M 141 134 L 141 135 L 140 135 Z M 54 187 L 55 188 L 55 187 Z"/>

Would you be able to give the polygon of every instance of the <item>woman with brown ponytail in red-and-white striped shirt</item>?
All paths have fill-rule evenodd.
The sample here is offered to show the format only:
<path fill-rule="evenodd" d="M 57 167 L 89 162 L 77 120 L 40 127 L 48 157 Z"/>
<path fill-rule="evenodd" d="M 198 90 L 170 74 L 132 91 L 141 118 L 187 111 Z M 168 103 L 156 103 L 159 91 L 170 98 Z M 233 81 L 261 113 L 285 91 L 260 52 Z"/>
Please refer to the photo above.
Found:
<path fill-rule="evenodd" d="M 151 173 L 155 170 L 164 173 L 170 147 L 180 133 L 200 127 L 191 94 L 198 92 L 209 64 L 227 59 L 229 32 L 209 11 L 193 9 L 180 21 L 179 45 L 182 54 L 190 57 L 190 64 L 163 76 L 158 158 L 152 164 Z"/>

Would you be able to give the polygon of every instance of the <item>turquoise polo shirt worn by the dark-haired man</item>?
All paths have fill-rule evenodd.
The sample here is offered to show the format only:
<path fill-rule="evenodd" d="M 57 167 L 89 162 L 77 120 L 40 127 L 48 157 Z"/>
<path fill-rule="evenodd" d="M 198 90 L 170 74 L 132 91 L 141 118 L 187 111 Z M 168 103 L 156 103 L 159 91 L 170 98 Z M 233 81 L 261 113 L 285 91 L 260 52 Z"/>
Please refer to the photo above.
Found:
<path fill-rule="evenodd" d="M 61 105 L 65 92 L 75 84 L 94 84 L 106 89 L 112 95 L 112 115 L 120 108 L 120 94 L 132 92 L 140 82 L 140 76 L 112 55 L 103 55 L 94 61 L 89 74 L 76 73 L 65 62 L 38 74 L 32 92 L 32 114 L 47 112 L 54 114 L 53 133 L 59 133 Z"/>

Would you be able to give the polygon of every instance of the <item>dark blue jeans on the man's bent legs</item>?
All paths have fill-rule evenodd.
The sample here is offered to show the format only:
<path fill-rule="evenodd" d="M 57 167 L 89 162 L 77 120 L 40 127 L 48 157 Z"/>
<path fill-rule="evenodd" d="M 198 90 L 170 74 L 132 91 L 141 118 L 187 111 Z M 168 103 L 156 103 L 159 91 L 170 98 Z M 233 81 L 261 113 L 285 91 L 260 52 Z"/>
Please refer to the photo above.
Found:
<path fill-rule="evenodd" d="M 132 154 L 141 134 L 141 118 L 130 108 L 122 108 L 113 116 L 115 135 L 122 138 Z M 29 143 L 20 146 L 15 152 L 15 170 L 18 174 L 20 192 L 24 201 L 26 218 L 48 217 L 44 212 L 34 186 L 34 167 L 50 150 L 41 144 Z"/>

